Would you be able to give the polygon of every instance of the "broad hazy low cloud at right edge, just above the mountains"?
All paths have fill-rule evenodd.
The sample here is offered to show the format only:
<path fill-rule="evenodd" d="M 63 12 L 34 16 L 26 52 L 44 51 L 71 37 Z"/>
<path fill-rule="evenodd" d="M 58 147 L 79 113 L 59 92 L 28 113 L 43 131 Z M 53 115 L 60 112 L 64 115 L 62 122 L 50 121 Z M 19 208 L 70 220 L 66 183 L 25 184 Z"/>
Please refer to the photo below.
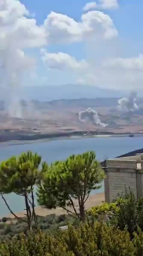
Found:
<path fill-rule="evenodd" d="M 87 70 L 78 80 L 84 84 L 110 89 L 142 89 L 143 72 L 141 70 L 105 67 L 101 63 L 92 63 L 92 68 Z"/>

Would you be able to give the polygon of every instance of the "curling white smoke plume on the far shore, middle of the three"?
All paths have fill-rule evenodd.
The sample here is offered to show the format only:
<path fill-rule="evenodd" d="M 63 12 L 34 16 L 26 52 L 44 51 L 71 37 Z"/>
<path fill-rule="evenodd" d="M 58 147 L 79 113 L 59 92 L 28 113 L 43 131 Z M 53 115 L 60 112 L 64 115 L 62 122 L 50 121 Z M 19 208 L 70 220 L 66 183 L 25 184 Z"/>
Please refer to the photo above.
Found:
<path fill-rule="evenodd" d="M 86 110 L 80 111 L 78 114 L 78 118 L 83 123 L 92 121 L 94 124 L 100 125 L 102 127 L 106 127 L 108 125 L 105 123 L 101 123 L 97 111 L 92 108 L 87 108 Z"/>

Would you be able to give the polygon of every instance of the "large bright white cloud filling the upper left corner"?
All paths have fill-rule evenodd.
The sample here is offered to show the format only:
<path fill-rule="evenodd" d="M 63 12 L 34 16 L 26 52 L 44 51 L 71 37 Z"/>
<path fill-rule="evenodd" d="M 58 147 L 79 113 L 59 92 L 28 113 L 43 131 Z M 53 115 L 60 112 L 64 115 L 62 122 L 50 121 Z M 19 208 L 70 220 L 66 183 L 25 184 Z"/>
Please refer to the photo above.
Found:
<path fill-rule="evenodd" d="M 29 12 L 19 1 L 5 0 L 0 5 L 0 45 L 11 42 L 13 47 L 29 48 L 46 44 L 44 28 L 26 15 Z"/>

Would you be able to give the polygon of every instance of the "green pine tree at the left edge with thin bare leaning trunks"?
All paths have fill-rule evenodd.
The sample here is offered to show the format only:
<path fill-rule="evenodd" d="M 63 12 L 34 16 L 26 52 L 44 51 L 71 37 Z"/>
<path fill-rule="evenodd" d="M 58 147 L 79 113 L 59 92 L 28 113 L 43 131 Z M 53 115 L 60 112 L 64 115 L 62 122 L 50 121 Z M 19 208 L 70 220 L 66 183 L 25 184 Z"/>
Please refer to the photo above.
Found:
<path fill-rule="evenodd" d="M 37 228 L 33 190 L 34 185 L 40 179 L 40 163 L 41 157 L 28 151 L 27 153 L 22 153 L 19 157 L 13 156 L 7 161 L 3 161 L 0 165 L 1 196 L 4 199 L 3 194 L 14 192 L 25 198 L 28 230 L 31 230 L 31 221 L 33 218 Z M 9 208 L 5 199 L 4 201 Z M 9 210 L 17 217 L 10 208 Z"/>

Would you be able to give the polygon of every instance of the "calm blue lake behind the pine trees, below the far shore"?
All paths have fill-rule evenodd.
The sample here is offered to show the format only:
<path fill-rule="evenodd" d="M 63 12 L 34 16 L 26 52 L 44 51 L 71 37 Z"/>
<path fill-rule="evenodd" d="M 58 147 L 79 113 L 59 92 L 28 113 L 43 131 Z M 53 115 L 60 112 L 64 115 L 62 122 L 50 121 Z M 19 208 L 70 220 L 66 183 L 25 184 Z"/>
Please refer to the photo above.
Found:
<path fill-rule="evenodd" d="M 21 143 L 21 142 L 20 142 Z M 31 150 L 42 156 L 44 161 L 51 163 L 56 160 L 64 160 L 71 154 L 79 154 L 93 150 L 96 152 L 99 161 L 107 158 L 114 158 L 118 155 L 127 153 L 143 147 L 143 137 L 105 137 L 105 138 L 83 138 L 83 139 L 63 139 L 49 142 L 32 142 L 31 144 L 0 144 L 0 161 L 12 155 L 19 155 L 24 151 Z M 104 186 L 94 193 L 103 192 Z M 24 201 L 22 197 L 15 194 L 5 195 L 10 208 L 15 211 L 23 211 Z M 0 216 L 9 214 L 9 211 L 0 198 Z"/>

